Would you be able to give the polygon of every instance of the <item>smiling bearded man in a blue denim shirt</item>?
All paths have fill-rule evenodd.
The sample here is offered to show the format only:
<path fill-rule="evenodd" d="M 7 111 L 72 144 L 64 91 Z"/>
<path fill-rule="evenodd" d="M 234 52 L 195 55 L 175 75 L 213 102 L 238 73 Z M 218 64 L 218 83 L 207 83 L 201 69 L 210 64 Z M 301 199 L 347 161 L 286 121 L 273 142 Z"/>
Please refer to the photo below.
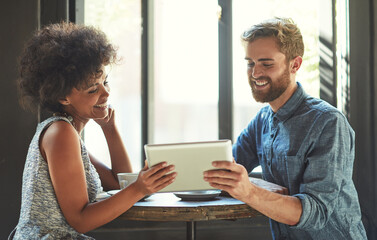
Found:
<path fill-rule="evenodd" d="M 352 181 L 354 131 L 341 112 L 296 82 L 300 30 L 275 18 L 252 26 L 242 40 L 253 97 L 269 105 L 238 137 L 236 162 L 213 162 L 224 170 L 207 171 L 204 180 L 269 217 L 274 239 L 367 239 Z M 259 165 L 281 191 L 250 181 L 248 172 Z"/>

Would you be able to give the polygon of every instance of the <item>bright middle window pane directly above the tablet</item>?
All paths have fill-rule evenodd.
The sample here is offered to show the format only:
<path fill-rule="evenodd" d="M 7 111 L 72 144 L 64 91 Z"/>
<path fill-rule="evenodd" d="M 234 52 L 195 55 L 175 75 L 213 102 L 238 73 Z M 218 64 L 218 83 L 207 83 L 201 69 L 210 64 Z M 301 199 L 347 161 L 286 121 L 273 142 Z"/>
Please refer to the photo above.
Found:
<path fill-rule="evenodd" d="M 149 141 L 218 139 L 216 0 L 156 0 Z"/>

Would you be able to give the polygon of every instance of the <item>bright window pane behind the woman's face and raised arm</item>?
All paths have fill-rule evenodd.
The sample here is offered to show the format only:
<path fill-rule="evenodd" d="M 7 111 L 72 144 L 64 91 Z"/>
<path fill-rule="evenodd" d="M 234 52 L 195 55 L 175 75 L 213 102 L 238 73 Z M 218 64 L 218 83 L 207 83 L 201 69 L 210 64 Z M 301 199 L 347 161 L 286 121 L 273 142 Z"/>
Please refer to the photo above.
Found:
<path fill-rule="evenodd" d="M 109 71 L 110 103 L 131 158 L 141 168 L 141 3 L 140 0 L 85 1 L 85 24 L 99 27 L 118 47 L 122 61 Z M 110 164 L 106 140 L 94 121 L 85 127 L 88 150 Z"/>

